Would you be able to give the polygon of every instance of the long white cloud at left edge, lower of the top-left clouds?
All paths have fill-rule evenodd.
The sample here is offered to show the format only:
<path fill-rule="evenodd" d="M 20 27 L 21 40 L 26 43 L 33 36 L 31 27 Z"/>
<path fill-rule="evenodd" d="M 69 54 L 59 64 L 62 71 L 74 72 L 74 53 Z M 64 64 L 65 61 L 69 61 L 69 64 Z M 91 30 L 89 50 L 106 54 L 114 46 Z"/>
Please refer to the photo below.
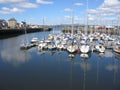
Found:
<path fill-rule="evenodd" d="M 22 13 L 24 12 L 23 9 L 19 9 L 19 8 L 7 8 L 7 7 L 3 7 L 1 10 L 0 10 L 0 14 L 12 14 L 12 13 Z"/>

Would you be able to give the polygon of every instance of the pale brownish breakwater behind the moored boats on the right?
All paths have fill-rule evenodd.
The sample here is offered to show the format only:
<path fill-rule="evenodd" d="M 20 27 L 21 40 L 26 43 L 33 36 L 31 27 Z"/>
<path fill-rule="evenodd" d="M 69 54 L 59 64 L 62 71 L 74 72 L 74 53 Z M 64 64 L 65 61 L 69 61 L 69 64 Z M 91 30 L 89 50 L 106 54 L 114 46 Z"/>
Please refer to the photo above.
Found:
<path fill-rule="evenodd" d="M 72 28 L 69 27 L 63 27 L 62 32 L 63 33 L 72 33 Z M 80 27 L 74 27 L 73 29 L 73 33 L 84 33 L 86 30 L 85 26 L 80 26 Z M 110 34 L 110 35 L 120 35 L 120 28 L 95 28 L 95 27 L 90 27 L 88 26 L 87 28 L 87 33 L 95 33 L 95 32 L 99 32 L 99 33 L 106 33 L 106 34 Z"/>

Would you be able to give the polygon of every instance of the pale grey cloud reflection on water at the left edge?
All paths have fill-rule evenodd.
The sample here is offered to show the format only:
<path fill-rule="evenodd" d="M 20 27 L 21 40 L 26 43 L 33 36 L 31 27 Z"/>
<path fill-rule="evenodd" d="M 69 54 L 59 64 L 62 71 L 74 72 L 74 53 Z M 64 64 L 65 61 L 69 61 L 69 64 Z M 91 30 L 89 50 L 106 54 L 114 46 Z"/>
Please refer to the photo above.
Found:
<path fill-rule="evenodd" d="M 15 66 L 21 63 L 25 63 L 31 58 L 31 56 L 26 51 L 12 51 L 11 53 L 9 50 L 2 50 L 1 57 L 4 62 L 12 63 Z"/>

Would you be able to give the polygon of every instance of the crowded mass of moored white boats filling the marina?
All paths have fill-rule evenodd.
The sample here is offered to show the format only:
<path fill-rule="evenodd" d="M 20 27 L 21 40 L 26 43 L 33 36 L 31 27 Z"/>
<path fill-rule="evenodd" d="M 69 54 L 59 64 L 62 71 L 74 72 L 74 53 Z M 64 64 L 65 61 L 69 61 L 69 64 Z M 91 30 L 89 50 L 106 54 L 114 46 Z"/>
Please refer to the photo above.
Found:
<path fill-rule="evenodd" d="M 74 33 L 73 31 L 71 33 L 59 32 L 59 34 L 52 31 L 52 33 L 48 34 L 48 36 L 44 37 L 42 40 L 39 40 L 38 37 L 33 37 L 29 42 L 25 34 L 25 41 L 21 47 L 24 48 L 25 46 L 24 49 L 28 49 L 30 47 L 37 46 L 38 51 L 65 50 L 69 53 L 79 52 L 83 54 L 89 52 L 93 53 L 94 51 L 104 53 L 106 49 L 111 49 L 112 51 L 120 54 L 119 34 L 111 35 L 108 33 L 94 32 L 85 35 L 82 32 Z"/>

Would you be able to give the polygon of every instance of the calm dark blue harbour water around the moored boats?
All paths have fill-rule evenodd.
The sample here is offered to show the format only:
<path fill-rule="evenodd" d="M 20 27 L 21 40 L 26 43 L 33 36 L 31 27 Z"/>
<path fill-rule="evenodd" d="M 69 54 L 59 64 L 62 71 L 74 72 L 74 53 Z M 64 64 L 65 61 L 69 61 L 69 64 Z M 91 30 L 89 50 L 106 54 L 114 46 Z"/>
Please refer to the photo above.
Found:
<path fill-rule="evenodd" d="M 27 34 L 43 39 L 49 33 Z M 37 47 L 20 50 L 24 35 L 0 40 L 0 90 L 120 90 L 120 55 L 67 51 L 39 52 Z"/>

